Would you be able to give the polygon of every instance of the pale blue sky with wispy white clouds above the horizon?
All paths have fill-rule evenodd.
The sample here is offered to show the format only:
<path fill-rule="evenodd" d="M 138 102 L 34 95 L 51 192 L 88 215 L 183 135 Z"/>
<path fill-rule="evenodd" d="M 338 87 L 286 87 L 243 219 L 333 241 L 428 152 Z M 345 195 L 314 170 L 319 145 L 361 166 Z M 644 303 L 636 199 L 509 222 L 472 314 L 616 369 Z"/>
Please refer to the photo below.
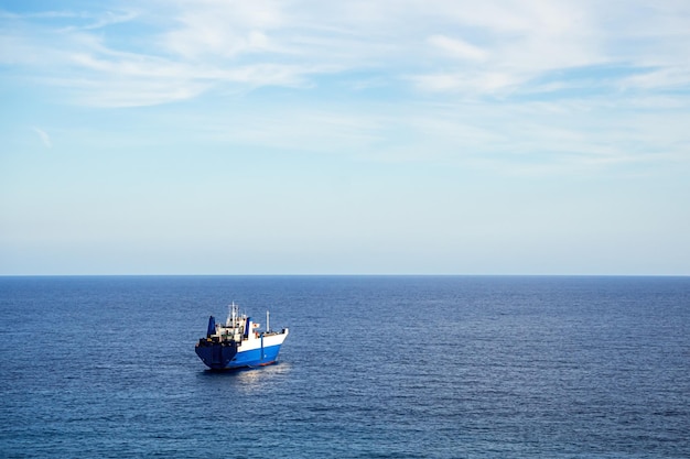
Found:
<path fill-rule="evenodd" d="M 690 275 L 686 0 L 0 0 L 0 275 Z"/>

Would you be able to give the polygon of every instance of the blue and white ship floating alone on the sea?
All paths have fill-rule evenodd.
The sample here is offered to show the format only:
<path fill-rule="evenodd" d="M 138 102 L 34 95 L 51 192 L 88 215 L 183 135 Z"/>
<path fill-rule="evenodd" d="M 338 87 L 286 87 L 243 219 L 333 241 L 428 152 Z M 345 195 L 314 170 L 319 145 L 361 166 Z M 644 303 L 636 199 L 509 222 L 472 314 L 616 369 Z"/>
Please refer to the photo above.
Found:
<path fill-rule="evenodd" d="M 238 305 L 229 306 L 225 324 L 208 317 L 206 337 L 195 346 L 196 354 L 212 370 L 233 370 L 263 367 L 276 363 L 280 347 L 288 337 L 288 328 L 272 331 L 269 326 L 269 312 L 266 312 L 266 328 L 239 313 Z"/>

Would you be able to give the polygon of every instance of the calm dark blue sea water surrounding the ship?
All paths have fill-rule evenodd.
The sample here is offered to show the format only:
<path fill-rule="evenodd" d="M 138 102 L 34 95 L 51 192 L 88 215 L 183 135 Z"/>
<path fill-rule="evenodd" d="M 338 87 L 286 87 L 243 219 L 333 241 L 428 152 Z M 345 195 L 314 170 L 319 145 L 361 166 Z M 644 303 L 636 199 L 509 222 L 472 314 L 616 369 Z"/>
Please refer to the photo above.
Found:
<path fill-rule="evenodd" d="M 205 370 L 231 300 L 280 363 Z M 690 277 L 0 277 L 0 457 L 690 458 Z"/>

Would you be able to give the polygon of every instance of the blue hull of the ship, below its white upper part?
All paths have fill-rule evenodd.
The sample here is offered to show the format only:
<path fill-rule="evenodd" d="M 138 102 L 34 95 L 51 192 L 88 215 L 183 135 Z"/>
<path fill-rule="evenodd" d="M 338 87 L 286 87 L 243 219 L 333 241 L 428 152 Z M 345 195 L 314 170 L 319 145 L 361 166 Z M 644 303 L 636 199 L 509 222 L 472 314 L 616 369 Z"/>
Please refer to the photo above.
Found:
<path fill-rule="evenodd" d="M 237 346 L 197 346 L 196 354 L 206 367 L 213 370 L 230 370 L 247 367 L 261 367 L 276 362 L 280 346 L 261 347 L 246 351 L 237 351 Z"/>

